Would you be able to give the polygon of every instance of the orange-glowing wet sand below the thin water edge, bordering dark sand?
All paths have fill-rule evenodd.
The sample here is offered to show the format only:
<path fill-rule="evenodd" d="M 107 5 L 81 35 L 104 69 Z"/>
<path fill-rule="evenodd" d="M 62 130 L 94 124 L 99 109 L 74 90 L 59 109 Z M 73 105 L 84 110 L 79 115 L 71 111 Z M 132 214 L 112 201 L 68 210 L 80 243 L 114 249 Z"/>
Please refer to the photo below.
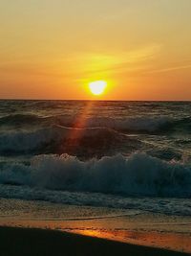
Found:
<path fill-rule="evenodd" d="M 139 215 L 93 220 L 19 220 L 20 218 L 2 217 L 0 226 L 59 230 L 126 244 L 187 252 L 191 255 L 189 218 L 173 220 L 171 217 Z"/>

